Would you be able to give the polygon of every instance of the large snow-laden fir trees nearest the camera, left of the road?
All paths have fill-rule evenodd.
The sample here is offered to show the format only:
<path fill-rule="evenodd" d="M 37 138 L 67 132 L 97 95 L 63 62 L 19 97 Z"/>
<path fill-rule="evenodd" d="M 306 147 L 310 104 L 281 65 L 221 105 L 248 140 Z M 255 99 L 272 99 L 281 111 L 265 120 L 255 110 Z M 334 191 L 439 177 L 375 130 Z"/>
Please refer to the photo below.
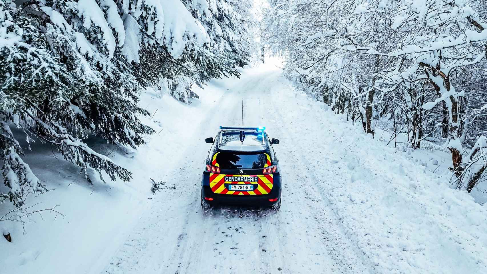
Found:
<path fill-rule="evenodd" d="M 18 207 L 27 193 L 45 187 L 21 161 L 10 127 L 21 128 L 30 145 L 55 145 L 88 180 L 87 168 L 94 168 L 128 181 L 128 170 L 82 140 L 95 134 L 120 145 L 144 144 L 143 135 L 154 131 L 137 119 L 148 114 L 137 101 L 150 77 L 140 61 L 150 52 L 170 56 L 174 66 L 208 42 L 179 0 L 0 0 L 0 37 L 0 161 L 7 190 L 0 203 L 9 199 Z M 192 71 L 179 67 L 171 71 L 176 77 Z"/>

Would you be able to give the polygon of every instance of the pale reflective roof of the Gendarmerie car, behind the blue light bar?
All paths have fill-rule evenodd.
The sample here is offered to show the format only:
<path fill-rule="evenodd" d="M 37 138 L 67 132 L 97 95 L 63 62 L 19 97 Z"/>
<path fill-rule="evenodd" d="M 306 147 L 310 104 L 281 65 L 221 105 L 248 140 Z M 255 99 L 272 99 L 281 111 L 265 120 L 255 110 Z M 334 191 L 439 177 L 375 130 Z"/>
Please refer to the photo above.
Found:
<path fill-rule="evenodd" d="M 221 130 L 218 149 L 228 151 L 264 151 L 266 138 L 263 131 Z M 243 135 L 241 135 L 243 133 Z M 243 137 L 241 137 L 243 136 Z M 241 138 L 243 140 L 241 140 Z"/>

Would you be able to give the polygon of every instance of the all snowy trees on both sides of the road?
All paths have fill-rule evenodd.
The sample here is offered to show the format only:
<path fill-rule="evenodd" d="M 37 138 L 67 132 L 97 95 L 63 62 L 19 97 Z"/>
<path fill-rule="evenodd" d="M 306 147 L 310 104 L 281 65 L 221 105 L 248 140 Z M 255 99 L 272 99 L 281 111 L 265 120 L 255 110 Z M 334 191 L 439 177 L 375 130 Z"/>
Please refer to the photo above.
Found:
<path fill-rule="evenodd" d="M 297 88 L 374 134 L 451 153 L 471 191 L 487 168 L 486 0 L 0 0 L 0 203 L 46 187 L 22 160 L 47 143 L 111 180 L 131 172 L 86 145 L 136 148 L 154 130 L 140 92 L 189 103 L 194 87 L 239 76 L 252 51 L 284 57 Z M 251 29 L 256 30 L 255 32 Z M 256 42 L 257 41 L 257 42 Z M 26 148 L 30 149 L 30 147 Z"/>

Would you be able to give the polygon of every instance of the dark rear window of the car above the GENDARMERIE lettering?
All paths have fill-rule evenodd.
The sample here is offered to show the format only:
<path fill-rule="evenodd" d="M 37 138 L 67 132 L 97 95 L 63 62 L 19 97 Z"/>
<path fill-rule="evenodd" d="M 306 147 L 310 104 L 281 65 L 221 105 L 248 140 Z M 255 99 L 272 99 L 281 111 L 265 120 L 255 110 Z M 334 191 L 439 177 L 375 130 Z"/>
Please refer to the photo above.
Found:
<path fill-rule="evenodd" d="M 239 154 L 222 151 L 216 156 L 216 162 L 222 169 L 264 168 L 265 154 Z"/>

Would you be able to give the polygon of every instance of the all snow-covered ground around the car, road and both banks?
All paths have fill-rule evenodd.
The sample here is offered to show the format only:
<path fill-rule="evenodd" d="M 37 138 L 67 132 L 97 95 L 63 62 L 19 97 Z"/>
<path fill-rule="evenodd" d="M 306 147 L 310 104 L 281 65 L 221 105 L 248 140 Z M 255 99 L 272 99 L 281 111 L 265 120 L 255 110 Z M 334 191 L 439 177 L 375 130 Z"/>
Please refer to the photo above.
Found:
<path fill-rule="evenodd" d="M 248 68 L 190 106 L 144 94 L 159 135 L 113 156 L 131 183 L 89 186 L 50 150 L 28 154 L 56 188 L 31 202 L 66 216 L 37 217 L 26 235 L 0 223 L 13 238 L 0 239 L 0 273 L 487 273 L 485 206 L 280 76 L 273 64 Z M 281 210 L 202 211 L 204 139 L 242 123 L 242 98 L 244 125 L 281 140 Z M 150 178 L 176 188 L 152 196 Z"/>

